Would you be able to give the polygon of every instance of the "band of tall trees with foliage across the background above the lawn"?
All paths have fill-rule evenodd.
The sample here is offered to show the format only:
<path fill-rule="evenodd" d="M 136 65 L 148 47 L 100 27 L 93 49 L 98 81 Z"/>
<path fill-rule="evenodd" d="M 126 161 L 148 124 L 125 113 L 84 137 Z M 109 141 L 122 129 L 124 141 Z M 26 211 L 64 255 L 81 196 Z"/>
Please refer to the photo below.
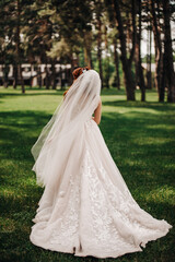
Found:
<path fill-rule="evenodd" d="M 100 72 L 102 87 L 120 88 L 122 66 L 128 100 L 141 99 L 152 78 L 159 100 L 175 102 L 171 0 L 3 0 L 0 1 L 0 63 L 8 86 L 9 64 L 14 64 L 14 87 L 24 84 L 21 64 L 45 63 L 46 87 L 52 82 L 47 64 L 90 66 Z M 142 32 L 148 32 L 147 70 L 142 67 Z M 151 37 L 153 34 L 153 38 Z M 154 43 L 155 56 L 151 44 Z M 167 51 L 168 50 L 168 51 Z M 155 73 L 151 72 L 154 59 Z M 112 83 L 113 79 L 113 83 Z M 56 85 L 56 84 L 54 84 Z M 56 86 L 55 86 L 56 87 Z M 54 88 L 55 88 L 54 87 Z M 166 92 L 167 91 L 167 92 Z"/>

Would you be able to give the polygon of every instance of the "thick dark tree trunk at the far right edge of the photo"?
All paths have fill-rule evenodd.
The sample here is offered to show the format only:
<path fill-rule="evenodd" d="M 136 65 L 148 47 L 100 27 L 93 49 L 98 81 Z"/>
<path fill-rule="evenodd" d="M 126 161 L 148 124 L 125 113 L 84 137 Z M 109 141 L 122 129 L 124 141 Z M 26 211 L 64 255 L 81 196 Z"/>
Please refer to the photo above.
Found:
<path fill-rule="evenodd" d="M 168 0 L 163 0 L 164 15 L 164 53 L 166 68 L 166 84 L 167 84 L 167 102 L 175 103 L 175 73 L 173 66 L 172 36 L 170 23 L 170 3 Z"/>

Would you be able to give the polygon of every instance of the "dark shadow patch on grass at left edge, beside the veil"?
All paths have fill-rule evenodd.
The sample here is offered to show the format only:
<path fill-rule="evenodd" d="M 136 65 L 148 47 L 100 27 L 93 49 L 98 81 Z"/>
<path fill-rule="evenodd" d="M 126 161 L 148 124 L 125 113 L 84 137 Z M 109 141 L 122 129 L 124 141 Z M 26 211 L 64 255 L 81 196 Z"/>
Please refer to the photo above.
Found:
<path fill-rule="evenodd" d="M 39 111 L 0 112 L 2 158 L 28 159 L 32 145 L 50 118 Z"/>

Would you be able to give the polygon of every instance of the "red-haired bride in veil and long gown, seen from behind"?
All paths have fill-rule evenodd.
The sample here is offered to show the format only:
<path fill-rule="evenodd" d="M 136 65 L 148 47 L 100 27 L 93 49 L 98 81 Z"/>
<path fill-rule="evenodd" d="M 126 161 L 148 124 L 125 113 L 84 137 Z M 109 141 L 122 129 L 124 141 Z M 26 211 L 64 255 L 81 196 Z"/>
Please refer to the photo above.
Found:
<path fill-rule="evenodd" d="M 172 226 L 137 204 L 112 158 L 98 128 L 98 73 L 77 68 L 73 78 L 32 147 L 32 170 L 45 190 L 30 239 L 44 249 L 79 257 L 142 251 Z"/>

